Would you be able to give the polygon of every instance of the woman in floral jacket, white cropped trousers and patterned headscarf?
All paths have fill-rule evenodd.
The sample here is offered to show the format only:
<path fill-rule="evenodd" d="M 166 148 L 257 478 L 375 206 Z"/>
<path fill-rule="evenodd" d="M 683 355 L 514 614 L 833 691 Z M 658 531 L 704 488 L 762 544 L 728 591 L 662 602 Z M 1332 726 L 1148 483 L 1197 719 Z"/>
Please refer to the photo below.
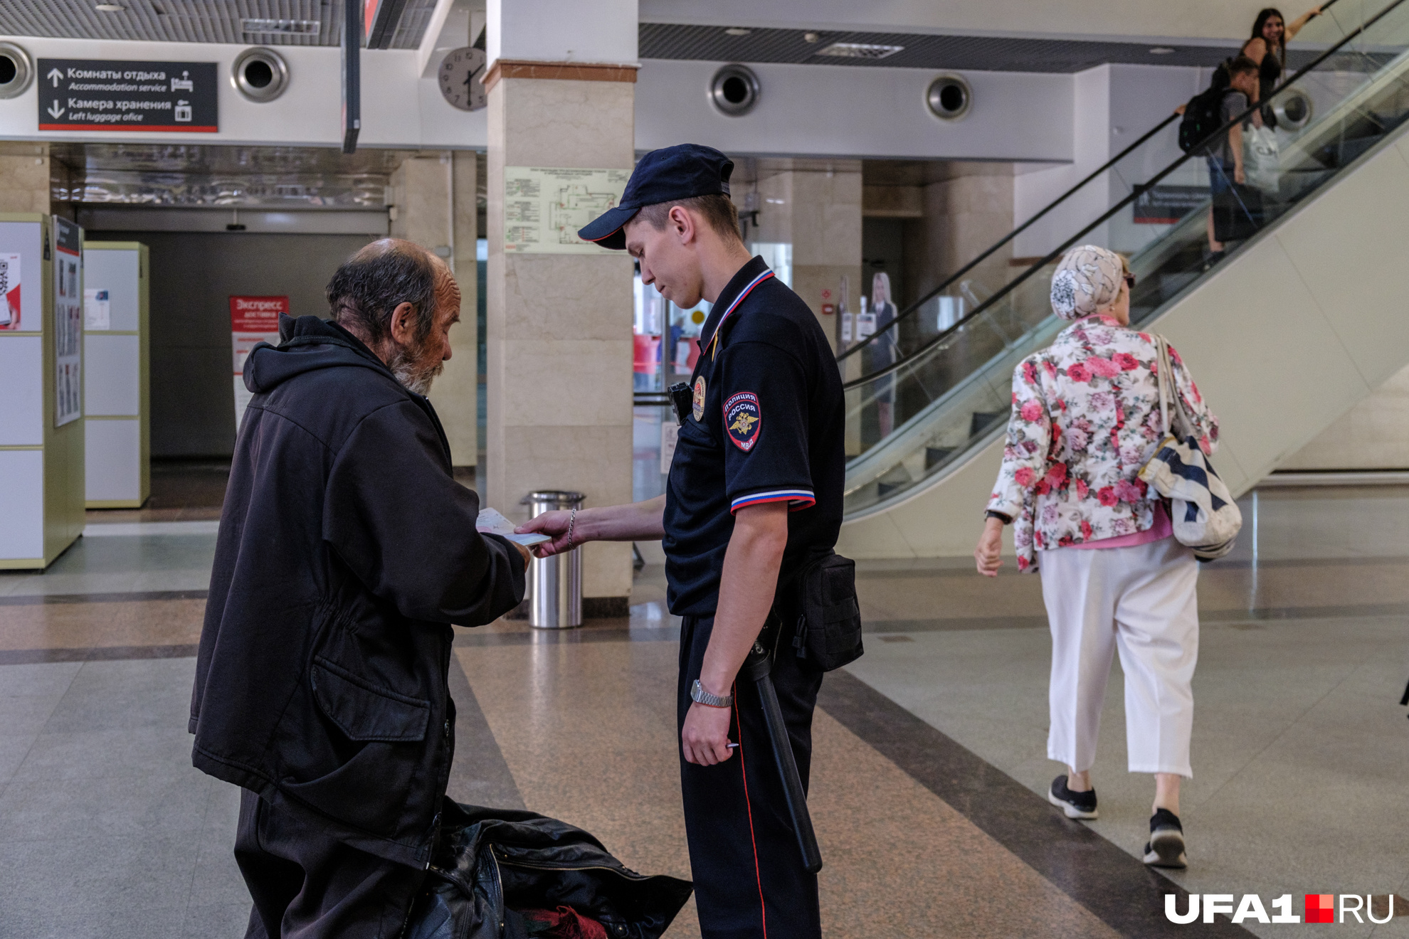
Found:
<path fill-rule="evenodd" d="M 1047 755 L 1069 769 L 1053 780 L 1048 801 L 1068 818 L 1096 818 L 1089 770 L 1119 650 L 1130 771 L 1155 776 L 1144 860 L 1184 867 L 1179 780 L 1192 776 L 1198 562 L 1138 479 L 1164 427 L 1158 346 L 1130 328 L 1133 283 L 1123 258 L 1093 245 L 1058 265 L 1053 310 L 1075 322 L 1013 372 L 1003 466 L 975 557 L 979 573 L 996 576 L 1012 522 L 1019 570 L 1041 573 L 1053 632 Z M 1174 348 L 1169 359 L 1185 412 L 1212 453 L 1217 418 Z"/>

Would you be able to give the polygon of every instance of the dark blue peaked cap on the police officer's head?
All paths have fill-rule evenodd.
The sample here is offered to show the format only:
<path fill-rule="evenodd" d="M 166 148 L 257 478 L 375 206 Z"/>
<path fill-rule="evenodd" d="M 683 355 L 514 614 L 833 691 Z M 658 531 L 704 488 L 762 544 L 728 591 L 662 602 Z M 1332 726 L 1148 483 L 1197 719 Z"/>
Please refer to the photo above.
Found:
<path fill-rule="evenodd" d="M 643 206 L 695 196 L 728 196 L 728 177 L 733 172 L 734 160 L 712 146 L 676 144 L 651 151 L 631 172 L 626 191 L 621 193 L 621 204 L 588 222 L 586 228 L 578 231 L 578 238 L 621 251 L 626 248 L 621 229 Z"/>

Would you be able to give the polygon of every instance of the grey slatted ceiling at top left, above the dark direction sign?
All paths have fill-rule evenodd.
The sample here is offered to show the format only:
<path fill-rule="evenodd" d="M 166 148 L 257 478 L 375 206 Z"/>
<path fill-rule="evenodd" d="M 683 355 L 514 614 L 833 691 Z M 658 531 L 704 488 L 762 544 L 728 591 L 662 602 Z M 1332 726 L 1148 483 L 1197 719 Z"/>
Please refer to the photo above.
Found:
<path fill-rule="evenodd" d="M 235 45 L 338 45 L 342 4 L 330 0 L 0 0 L 0 35 Z M 414 49 L 435 0 L 407 0 L 393 49 Z M 248 20 L 265 21 L 247 31 Z M 273 21 L 272 24 L 268 21 Z M 282 24 L 282 30 L 280 30 Z M 263 30 L 273 31 L 263 31 Z M 293 30 L 293 31 L 287 31 Z"/>

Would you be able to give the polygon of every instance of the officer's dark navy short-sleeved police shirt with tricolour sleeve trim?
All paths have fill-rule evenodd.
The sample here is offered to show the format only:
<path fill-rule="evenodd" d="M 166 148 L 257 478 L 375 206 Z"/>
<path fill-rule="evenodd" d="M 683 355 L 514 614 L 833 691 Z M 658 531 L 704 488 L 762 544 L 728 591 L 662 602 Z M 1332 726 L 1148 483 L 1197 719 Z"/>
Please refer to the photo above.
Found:
<path fill-rule="evenodd" d="M 762 258 L 734 275 L 702 331 L 693 408 L 665 489 L 671 612 L 709 617 L 734 512 L 788 503 L 779 583 L 837 543 L 845 477 L 841 376 L 807 304 Z"/>

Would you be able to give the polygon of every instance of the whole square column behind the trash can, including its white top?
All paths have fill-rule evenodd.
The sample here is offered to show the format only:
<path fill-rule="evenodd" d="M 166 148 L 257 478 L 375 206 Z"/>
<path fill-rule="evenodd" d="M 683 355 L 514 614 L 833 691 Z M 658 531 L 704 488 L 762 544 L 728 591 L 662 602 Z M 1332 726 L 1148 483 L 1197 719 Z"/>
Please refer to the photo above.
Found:
<path fill-rule="evenodd" d="M 486 504 L 531 490 L 631 501 L 631 272 L 624 252 L 504 251 L 504 168 L 635 162 L 637 4 L 490 0 Z M 583 548 L 583 614 L 626 615 L 631 545 Z"/>

